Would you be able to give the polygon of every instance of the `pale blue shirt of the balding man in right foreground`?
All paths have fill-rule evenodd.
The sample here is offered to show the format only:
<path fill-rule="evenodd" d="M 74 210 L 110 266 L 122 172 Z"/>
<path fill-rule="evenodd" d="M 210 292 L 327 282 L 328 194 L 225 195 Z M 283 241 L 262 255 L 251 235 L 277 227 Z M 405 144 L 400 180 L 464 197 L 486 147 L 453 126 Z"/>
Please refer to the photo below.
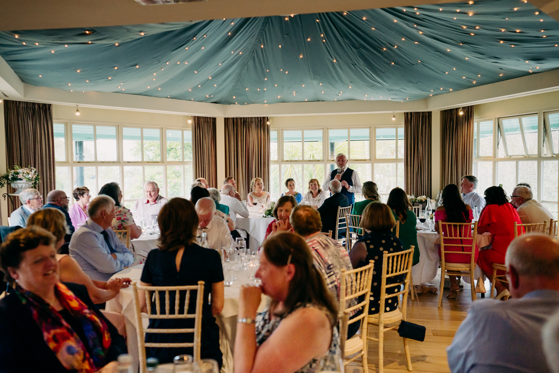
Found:
<path fill-rule="evenodd" d="M 541 330 L 558 309 L 556 290 L 473 302 L 447 347 L 448 366 L 453 373 L 549 372 Z"/>

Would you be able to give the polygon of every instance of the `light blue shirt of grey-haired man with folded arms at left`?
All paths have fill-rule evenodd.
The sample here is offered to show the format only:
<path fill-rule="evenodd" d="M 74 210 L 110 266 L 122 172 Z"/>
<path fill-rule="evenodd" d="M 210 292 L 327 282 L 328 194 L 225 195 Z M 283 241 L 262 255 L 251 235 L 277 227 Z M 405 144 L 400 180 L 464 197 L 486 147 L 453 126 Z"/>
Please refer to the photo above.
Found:
<path fill-rule="evenodd" d="M 134 262 L 134 256 L 116 237 L 115 232 L 107 228 L 108 240 L 113 247 L 111 251 L 101 234 L 102 231 L 101 225 L 88 219 L 72 235 L 69 253 L 93 280 L 107 281 L 114 273 L 130 266 Z M 116 254 L 116 259 L 111 253 Z"/>

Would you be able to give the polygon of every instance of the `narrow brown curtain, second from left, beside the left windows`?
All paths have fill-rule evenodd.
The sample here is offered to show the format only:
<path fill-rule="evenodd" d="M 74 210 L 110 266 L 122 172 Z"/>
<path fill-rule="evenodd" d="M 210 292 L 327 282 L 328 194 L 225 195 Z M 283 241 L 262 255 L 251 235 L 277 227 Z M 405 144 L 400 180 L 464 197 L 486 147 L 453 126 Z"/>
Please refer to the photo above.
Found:
<path fill-rule="evenodd" d="M 192 117 L 192 159 L 194 178 L 203 177 L 217 187 L 215 118 Z"/>

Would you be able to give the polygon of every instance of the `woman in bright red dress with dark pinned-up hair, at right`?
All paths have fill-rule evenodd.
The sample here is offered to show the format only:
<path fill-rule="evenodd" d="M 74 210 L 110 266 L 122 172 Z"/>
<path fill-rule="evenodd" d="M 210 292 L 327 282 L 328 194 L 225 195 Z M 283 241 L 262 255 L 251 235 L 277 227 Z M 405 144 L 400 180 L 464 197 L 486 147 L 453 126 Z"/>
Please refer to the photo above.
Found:
<path fill-rule="evenodd" d="M 489 232 L 493 235 L 492 247 L 480 252 L 477 265 L 480 266 L 484 275 L 488 278 L 493 276 L 493 263 L 505 264 L 506 249 L 514 239 L 514 222 L 522 224 L 517 209 L 510 204 L 503 188 L 492 186 L 485 190 L 486 205 L 481 211 L 480 220 L 477 223 L 477 234 Z M 518 229 L 522 234 L 524 228 Z M 504 275 L 503 271 L 497 271 L 498 275 Z M 505 284 L 506 285 L 506 284 Z M 497 293 L 501 294 L 507 287 L 500 281 L 495 282 Z M 507 295 L 506 292 L 503 295 Z"/>

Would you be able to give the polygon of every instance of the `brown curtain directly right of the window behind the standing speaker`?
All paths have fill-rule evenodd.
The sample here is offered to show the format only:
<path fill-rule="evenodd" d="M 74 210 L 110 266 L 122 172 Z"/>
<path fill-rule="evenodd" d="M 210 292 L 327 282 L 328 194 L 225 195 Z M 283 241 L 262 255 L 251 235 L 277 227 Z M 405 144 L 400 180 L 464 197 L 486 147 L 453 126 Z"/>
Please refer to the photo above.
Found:
<path fill-rule="evenodd" d="M 431 119 L 433 112 L 404 113 L 406 193 L 431 194 Z"/>

